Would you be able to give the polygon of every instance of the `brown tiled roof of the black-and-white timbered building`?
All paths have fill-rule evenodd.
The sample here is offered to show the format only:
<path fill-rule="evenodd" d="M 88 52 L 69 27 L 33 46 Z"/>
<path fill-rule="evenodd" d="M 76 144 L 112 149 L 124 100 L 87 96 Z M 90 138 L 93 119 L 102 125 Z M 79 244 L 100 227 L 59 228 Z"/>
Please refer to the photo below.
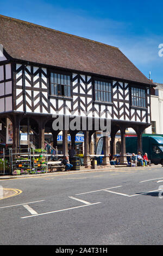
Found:
<path fill-rule="evenodd" d="M 2 15 L 0 43 L 14 59 L 151 83 L 117 47 Z"/>

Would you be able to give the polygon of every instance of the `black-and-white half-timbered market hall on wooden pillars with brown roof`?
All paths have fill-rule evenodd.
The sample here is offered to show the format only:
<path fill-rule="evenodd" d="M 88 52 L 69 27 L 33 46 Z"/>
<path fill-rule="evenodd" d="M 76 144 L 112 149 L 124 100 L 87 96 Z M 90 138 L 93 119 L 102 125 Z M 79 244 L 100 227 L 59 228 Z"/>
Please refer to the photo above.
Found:
<path fill-rule="evenodd" d="M 119 48 L 0 15 L 0 118 L 1 142 L 6 142 L 7 120 L 12 123 L 12 147 L 20 147 L 20 130 L 33 131 L 36 147 L 44 147 L 44 133 L 58 115 L 111 120 L 111 150 L 104 136 L 104 164 L 109 162 L 115 135 L 121 131 L 121 155 L 126 153 L 125 131 L 141 134 L 151 125 L 152 82 L 124 56 Z M 66 121 L 65 121 L 66 122 Z M 94 122 L 95 123 L 95 122 Z M 93 123 L 93 124 L 94 124 Z M 67 133 L 62 129 L 64 155 Z M 90 162 L 90 138 L 84 130 L 84 163 Z M 97 129 L 98 130 L 98 129 Z M 38 139 L 37 139 L 38 138 Z"/>

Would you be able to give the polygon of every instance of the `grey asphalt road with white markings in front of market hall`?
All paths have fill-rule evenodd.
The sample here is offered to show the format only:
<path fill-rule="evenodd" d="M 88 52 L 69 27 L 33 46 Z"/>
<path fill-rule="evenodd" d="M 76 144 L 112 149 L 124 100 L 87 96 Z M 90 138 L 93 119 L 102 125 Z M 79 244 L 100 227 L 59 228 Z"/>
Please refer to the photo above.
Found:
<path fill-rule="evenodd" d="M 22 191 L 0 200 L 0 245 L 162 245 L 161 185 L 161 166 L 0 180 Z"/>

